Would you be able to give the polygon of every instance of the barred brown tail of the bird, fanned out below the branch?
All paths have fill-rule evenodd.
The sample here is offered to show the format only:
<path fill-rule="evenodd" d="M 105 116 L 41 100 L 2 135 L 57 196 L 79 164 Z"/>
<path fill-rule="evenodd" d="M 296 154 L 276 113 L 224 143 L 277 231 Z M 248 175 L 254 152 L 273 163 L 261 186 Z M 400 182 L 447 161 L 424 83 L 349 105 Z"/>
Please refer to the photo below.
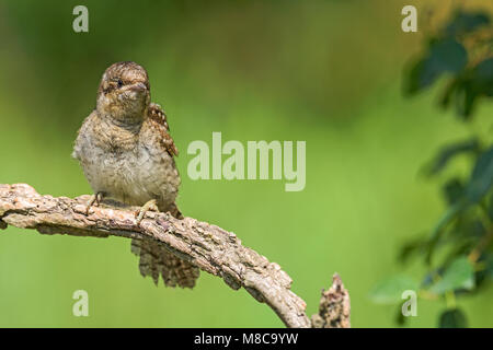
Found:
<path fill-rule="evenodd" d="M 183 219 L 176 206 L 173 206 L 170 213 L 176 219 Z M 175 256 L 162 243 L 152 238 L 133 238 L 131 253 L 139 256 L 140 273 L 144 277 L 152 277 L 156 285 L 159 276 L 168 287 L 193 288 L 195 285 L 199 275 L 198 268 Z"/>

